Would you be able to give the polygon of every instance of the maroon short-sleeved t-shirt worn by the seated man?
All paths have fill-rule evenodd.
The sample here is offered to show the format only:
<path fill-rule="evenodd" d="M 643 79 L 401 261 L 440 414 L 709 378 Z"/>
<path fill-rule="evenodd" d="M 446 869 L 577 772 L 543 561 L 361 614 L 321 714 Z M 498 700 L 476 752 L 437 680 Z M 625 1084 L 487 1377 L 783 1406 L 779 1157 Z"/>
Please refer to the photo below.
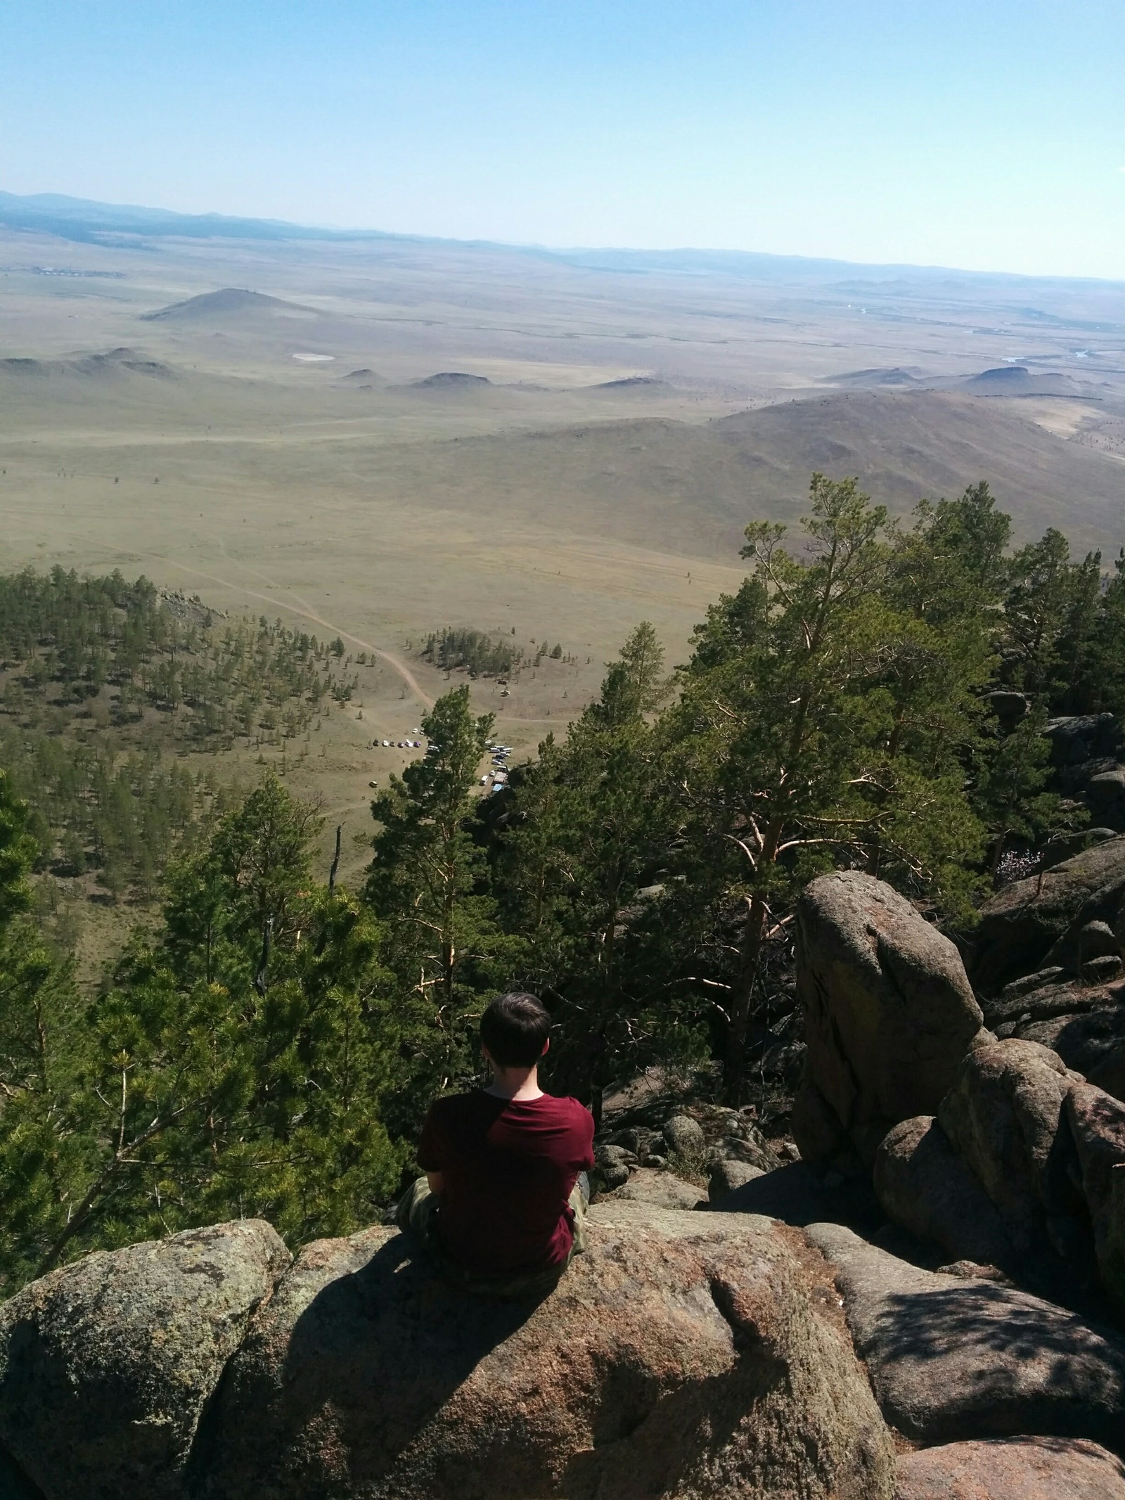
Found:
<path fill-rule="evenodd" d="M 438 1234 L 466 1270 L 561 1266 L 574 1242 L 567 1198 L 594 1166 L 594 1119 L 578 1100 L 500 1100 L 477 1089 L 436 1100 L 418 1166 L 444 1178 Z"/>

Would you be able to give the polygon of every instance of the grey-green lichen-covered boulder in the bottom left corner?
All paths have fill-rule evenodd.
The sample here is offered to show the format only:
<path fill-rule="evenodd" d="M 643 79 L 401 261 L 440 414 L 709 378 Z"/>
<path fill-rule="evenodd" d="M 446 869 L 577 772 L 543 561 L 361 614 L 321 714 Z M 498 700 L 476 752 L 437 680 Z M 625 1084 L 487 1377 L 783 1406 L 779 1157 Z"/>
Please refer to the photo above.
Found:
<path fill-rule="evenodd" d="M 87 1256 L 0 1308 L 0 1438 L 46 1500 L 172 1500 L 290 1252 L 244 1220 Z"/>

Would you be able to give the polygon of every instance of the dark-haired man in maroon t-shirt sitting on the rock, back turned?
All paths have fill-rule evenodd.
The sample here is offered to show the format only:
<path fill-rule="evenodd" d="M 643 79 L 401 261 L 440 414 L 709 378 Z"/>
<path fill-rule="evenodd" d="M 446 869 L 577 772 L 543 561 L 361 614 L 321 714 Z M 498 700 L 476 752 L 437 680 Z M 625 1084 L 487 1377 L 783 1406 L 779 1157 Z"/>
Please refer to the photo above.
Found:
<path fill-rule="evenodd" d="M 426 1176 L 398 1208 L 442 1272 L 482 1296 L 549 1292 L 582 1250 L 582 1184 L 594 1120 L 538 1086 L 550 1016 L 532 994 L 502 994 L 480 1018 L 492 1083 L 430 1106 L 418 1146 Z"/>

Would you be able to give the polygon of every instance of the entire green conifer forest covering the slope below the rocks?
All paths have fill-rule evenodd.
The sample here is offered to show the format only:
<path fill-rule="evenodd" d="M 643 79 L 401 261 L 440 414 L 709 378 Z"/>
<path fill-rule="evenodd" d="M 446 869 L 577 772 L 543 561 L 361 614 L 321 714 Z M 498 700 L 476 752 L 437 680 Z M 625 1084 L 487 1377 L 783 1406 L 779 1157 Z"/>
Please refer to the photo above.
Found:
<path fill-rule="evenodd" d="M 1082 825 L 1042 729 L 1125 711 L 1125 554 L 1107 578 L 1054 530 L 1014 549 L 987 484 L 894 520 L 818 474 L 801 530 L 747 526 L 742 556 L 684 663 L 640 622 L 502 792 L 490 718 L 446 693 L 357 890 L 321 882 L 276 777 L 176 754 L 303 732 L 354 687 L 342 646 L 117 573 L 0 579 L 0 1290 L 222 1218 L 292 1245 L 370 1222 L 514 986 L 555 1018 L 548 1086 L 596 1114 L 652 1064 L 766 1107 L 810 876 L 864 868 L 966 926 Z M 426 651 L 519 662 L 472 632 Z M 93 990 L 36 915 L 50 868 L 152 906 Z"/>

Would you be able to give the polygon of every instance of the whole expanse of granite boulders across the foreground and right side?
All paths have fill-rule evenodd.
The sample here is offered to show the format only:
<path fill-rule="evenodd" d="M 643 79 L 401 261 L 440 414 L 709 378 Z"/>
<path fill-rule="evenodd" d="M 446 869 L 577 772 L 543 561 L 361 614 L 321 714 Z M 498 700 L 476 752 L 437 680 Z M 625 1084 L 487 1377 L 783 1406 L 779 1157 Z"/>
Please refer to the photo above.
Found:
<path fill-rule="evenodd" d="M 858 872 L 796 930 L 795 1144 L 618 1110 L 532 1302 L 386 1226 L 87 1256 L 0 1308 L 0 1492 L 1125 1500 L 1125 836 L 960 946 Z"/>

